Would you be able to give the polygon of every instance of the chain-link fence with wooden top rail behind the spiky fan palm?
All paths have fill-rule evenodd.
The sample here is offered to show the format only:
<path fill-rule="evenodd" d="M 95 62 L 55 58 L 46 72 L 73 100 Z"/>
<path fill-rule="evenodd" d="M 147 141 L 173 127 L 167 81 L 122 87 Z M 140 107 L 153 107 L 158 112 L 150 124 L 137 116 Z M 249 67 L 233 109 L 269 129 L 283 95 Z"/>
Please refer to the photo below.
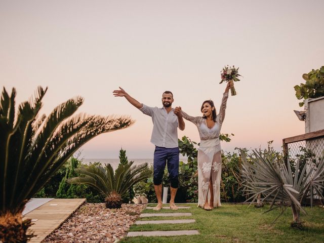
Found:
<path fill-rule="evenodd" d="M 297 161 L 301 166 L 307 164 L 307 170 L 315 173 L 320 159 L 324 156 L 324 130 L 311 132 L 282 140 L 284 154 L 289 161 Z M 314 198 L 318 198 L 316 195 Z"/>

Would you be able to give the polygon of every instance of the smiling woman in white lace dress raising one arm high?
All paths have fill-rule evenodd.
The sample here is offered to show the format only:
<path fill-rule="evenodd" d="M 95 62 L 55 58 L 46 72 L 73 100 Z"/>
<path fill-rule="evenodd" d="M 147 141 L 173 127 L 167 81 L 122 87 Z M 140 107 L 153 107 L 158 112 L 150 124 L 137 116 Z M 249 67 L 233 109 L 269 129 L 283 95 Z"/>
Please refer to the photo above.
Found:
<path fill-rule="evenodd" d="M 183 118 L 191 121 L 198 128 L 200 146 L 198 150 L 198 206 L 205 210 L 221 206 L 220 182 L 221 182 L 221 145 L 219 134 L 225 117 L 226 101 L 228 98 L 229 83 L 227 83 L 219 114 L 212 100 L 206 100 L 201 105 L 201 116 L 190 116 L 181 111 L 181 107 L 175 108 L 175 113 L 181 112 Z M 208 202 L 208 189 L 210 201 Z"/>

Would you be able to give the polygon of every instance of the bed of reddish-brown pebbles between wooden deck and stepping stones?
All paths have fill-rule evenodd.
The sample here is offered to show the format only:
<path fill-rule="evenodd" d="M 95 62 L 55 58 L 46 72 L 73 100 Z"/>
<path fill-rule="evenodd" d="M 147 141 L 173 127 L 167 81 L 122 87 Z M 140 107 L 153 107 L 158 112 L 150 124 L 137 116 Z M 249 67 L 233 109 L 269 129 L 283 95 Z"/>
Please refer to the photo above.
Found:
<path fill-rule="evenodd" d="M 123 204 L 106 209 L 105 204 L 85 204 L 42 242 L 117 242 L 145 208 Z"/>

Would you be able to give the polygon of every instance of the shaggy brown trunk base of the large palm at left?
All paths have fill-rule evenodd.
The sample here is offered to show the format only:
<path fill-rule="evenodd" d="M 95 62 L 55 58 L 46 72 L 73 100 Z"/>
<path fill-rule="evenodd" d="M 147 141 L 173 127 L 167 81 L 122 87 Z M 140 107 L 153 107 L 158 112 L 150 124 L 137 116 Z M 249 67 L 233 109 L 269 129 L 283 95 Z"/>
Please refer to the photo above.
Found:
<path fill-rule="evenodd" d="M 0 242 L 27 242 L 36 235 L 27 234 L 32 225 L 31 219 L 22 220 L 21 212 L 12 214 L 7 212 L 0 215 Z"/>

